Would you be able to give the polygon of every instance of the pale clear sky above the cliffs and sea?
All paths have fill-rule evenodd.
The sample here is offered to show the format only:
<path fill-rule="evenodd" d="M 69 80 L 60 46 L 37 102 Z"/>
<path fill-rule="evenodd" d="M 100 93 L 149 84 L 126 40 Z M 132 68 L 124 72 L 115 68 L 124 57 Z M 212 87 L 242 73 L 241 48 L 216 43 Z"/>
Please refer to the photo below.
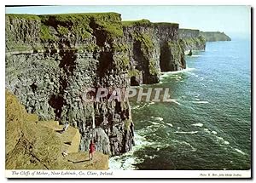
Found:
<path fill-rule="evenodd" d="M 38 6 L 6 7 L 7 14 L 70 14 L 117 12 L 122 20 L 147 19 L 152 22 L 175 22 L 180 28 L 201 31 L 224 31 L 230 37 L 249 36 L 249 6 Z"/>

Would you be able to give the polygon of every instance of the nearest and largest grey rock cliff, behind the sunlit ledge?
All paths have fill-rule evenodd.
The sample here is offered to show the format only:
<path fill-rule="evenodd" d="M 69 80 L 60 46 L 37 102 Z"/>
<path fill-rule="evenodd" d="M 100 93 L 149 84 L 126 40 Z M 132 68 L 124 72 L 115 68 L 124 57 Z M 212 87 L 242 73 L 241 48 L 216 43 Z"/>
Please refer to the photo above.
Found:
<path fill-rule="evenodd" d="M 129 62 L 113 46 L 122 36 L 119 14 L 6 16 L 6 88 L 27 112 L 79 129 L 80 150 L 95 139 L 101 152 L 131 150 L 129 101 L 84 102 L 86 88 L 126 88 Z M 125 126 L 126 121 L 131 121 Z M 104 122 L 104 123 L 103 123 Z"/>

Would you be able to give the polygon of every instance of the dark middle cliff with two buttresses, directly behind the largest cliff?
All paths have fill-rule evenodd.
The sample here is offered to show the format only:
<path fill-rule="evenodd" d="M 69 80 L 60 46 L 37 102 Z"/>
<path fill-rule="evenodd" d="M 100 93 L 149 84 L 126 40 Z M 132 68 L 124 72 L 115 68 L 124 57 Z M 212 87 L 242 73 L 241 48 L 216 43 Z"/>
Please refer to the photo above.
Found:
<path fill-rule="evenodd" d="M 159 83 L 160 71 L 186 67 L 177 30 L 178 25 L 173 23 L 123 22 L 124 42 L 129 45 L 131 85 Z"/>

